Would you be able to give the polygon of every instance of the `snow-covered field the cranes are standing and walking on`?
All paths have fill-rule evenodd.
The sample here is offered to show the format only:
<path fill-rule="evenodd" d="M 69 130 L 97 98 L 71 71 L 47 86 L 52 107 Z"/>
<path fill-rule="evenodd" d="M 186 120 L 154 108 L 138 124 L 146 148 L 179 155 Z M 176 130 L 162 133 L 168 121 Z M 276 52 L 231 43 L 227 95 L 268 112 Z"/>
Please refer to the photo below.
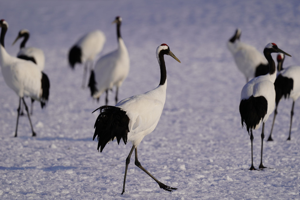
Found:
<path fill-rule="evenodd" d="M 31 137 L 27 117 L 14 138 L 17 95 L 0 75 L 0 199 L 299 199 L 300 102 L 295 103 L 292 140 L 286 141 L 292 100 L 283 100 L 273 131 L 265 125 L 264 165 L 249 171 L 250 137 L 241 127 L 239 101 L 245 78 L 226 47 L 236 28 L 241 41 L 261 52 L 274 42 L 292 55 L 284 66 L 300 65 L 300 2 L 1 0 L 0 18 L 9 28 L 7 52 L 20 29 L 31 32 L 27 46 L 46 54 L 50 79 L 45 110 L 35 103 Z M 156 48 L 166 43 L 182 63 L 166 56 L 167 99 L 156 129 L 138 147 L 139 161 L 161 182 L 159 188 L 134 165 L 121 195 L 125 159 L 131 144 L 113 141 L 98 153 L 92 141 L 96 108 L 104 105 L 81 89 L 83 68 L 71 70 L 69 48 L 88 31 L 101 29 L 107 42 L 101 55 L 117 48 L 116 16 L 131 58 L 119 99 L 158 86 Z M 276 54 L 273 54 L 273 58 Z M 110 105 L 114 105 L 110 93 Z M 26 98 L 28 104 L 29 98 Z M 260 162 L 261 128 L 253 131 L 254 166 Z"/>

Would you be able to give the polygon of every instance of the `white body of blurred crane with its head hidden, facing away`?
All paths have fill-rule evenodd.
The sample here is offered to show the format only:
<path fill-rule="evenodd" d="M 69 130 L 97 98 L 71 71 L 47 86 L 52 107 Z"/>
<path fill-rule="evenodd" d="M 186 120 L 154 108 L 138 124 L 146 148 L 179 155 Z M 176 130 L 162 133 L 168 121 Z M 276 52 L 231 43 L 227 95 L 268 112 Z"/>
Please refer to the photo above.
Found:
<path fill-rule="evenodd" d="M 100 30 L 95 30 L 82 36 L 76 42 L 76 46 L 81 48 L 81 62 L 93 62 L 95 56 L 103 49 L 105 41 L 106 37 Z"/>

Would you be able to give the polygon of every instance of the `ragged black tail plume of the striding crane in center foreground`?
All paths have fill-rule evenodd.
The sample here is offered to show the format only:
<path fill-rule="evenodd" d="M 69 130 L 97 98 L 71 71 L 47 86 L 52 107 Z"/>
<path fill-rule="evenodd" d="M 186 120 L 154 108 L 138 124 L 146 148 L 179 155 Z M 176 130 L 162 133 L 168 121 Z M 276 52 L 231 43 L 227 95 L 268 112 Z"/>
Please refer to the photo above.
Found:
<path fill-rule="evenodd" d="M 101 106 L 95 111 L 100 110 L 100 114 L 95 122 L 95 134 L 93 140 L 98 139 L 98 151 L 102 152 L 105 145 L 117 138 L 118 144 L 121 138 L 127 143 L 127 134 L 129 132 L 129 117 L 121 108 L 115 106 Z M 95 112 L 94 111 L 94 112 Z"/>

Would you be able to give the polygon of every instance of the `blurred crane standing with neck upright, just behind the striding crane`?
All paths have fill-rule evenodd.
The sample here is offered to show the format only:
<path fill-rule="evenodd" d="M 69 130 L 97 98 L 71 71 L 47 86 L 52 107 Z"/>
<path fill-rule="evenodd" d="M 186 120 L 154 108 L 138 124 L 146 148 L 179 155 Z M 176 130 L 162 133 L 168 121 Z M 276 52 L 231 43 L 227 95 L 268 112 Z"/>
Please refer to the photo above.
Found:
<path fill-rule="evenodd" d="M 118 49 L 101 57 L 91 71 L 88 86 L 91 96 L 98 99 L 103 92 L 106 92 L 106 105 L 108 105 L 108 91 L 116 86 L 116 103 L 118 103 L 119 87 L 129 73 L 129 55 L 125 43 L 121 37 L 122 18 L 116 17 L 113 23 L 117 24 Z"/>

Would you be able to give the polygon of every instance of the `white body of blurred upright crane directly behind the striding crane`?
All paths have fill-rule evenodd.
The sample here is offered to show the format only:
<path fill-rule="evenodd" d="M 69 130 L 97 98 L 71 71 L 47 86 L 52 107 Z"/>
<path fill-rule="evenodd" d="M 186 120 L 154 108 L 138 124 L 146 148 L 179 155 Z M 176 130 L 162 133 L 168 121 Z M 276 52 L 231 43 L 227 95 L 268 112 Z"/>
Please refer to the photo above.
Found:
<path fill-rule="evenodd" d="M 113 89 L 113 86 L 119 88 L 128 76 L 130 68 L 128 50 L 122 38 L 118 38 L 118 41 L 118 49 L 101 57 L 95 64 L 98 92 L 93 98 L 99 98 L 106 90 Z"/>

